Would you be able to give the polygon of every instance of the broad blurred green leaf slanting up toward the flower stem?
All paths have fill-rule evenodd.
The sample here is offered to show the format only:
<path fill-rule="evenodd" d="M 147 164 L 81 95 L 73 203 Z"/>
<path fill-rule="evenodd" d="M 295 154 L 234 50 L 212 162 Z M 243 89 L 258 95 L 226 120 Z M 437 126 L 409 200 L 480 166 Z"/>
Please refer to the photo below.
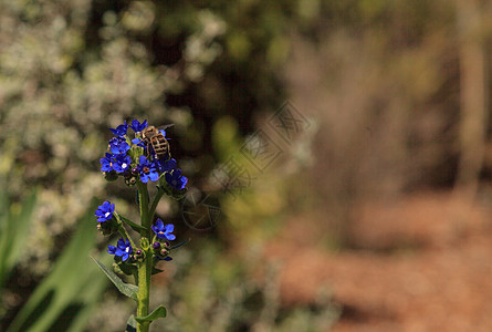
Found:
<path fill-rule="evenodd" d="M 75 234 L 63 248 L 53 269 L 10 322 L 8 332 L 85 331 L 107 286 L 107 279 L 98 269 L 91 263 L 87 266 L 88 252 L 95 246 L 96 229 L 93 222 L 96 207 L 97 201 L 94 201 L 86 215 L 81 217 Z M 111 257 L 106 255 L 106 258 Z M 63 323 L 62 317 L 70 321 L 70 326 Z"/>

